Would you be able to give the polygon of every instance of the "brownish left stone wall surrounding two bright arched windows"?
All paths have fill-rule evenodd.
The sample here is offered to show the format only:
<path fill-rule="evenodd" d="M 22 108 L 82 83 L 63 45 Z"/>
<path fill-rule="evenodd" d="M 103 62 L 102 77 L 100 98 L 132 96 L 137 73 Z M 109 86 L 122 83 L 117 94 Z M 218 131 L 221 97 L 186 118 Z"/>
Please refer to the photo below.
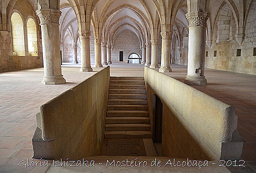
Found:
<path fill-rule="evenodd" d="M 26 6 L 26 8 L 24 8 Z M 8 10 L 7 10 L 8 12 Z M 25 56 L 15 56 L 12 50 L 12 32 L 10 18 L 13 12 L 18 12 L 23 22 L 24 32 L 24 45 L 25 45 Z M 13 71 L 26 68 L 42 67 L 42 45 L 40 35 L 40 25 L 38 17 L 31 4 L 27 0 L 18 0 L 13 10 L 10 11 L 8 17 L 8 31 L 0 31 L 0 72 Z M 33 18 L 36 25 L 36 36 L 37 36 L 37 56 L 30 56 L 27 48 L 27 28 L 26 22 L 28 18 Z"/>

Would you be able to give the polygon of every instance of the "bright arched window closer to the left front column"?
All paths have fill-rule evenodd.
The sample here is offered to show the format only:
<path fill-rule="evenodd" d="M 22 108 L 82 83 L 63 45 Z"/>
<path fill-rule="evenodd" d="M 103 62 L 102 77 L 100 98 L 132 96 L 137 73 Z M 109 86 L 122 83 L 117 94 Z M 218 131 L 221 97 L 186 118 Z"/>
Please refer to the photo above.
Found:
<path fill-rule="evenodd" d="M 32 18 L 29 18 L 27 20 L 26 27 L 27 27 L 28 54 L 30 56 L 37 56 L 36 26 Z"/>

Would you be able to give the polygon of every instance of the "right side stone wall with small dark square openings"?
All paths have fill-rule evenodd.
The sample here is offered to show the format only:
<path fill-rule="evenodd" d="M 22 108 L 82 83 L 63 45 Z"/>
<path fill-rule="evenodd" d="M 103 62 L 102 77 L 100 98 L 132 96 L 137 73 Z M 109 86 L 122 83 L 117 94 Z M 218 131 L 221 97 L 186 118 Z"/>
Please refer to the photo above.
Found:
<path fill-rule="evenodd" d="M 253 56 L 253 47 L 256 47 L 256 1 L 252 2 L 245 26 L 245 37 L 240 45 L 235 40 L 236 26 L 233 15 L 230 17 L 230 37 L 227 40 L 217 39 L 217 31 L 221 28 L 214 26 L 213 41 L 211 47 L 206 46 L 208 56 L 205 57 L 205 67 L 234 71 L 247 74 L 256 74 L 256 56 Z M 226 28 L 224 31 L 228 32 Z M 218 43 L 216 43 L 216 40 Z M 241 55 L 236 56 L 237 49 L 241 49 Z M 216 50 L 216 56 L 213 56 Z"/>

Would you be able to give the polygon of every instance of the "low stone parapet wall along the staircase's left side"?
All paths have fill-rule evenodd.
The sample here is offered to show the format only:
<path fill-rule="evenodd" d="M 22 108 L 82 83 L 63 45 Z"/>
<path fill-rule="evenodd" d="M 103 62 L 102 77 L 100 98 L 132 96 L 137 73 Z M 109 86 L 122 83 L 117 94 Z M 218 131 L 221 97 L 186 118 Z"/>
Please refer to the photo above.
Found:
<path fill-rule="evenodd" d="M 109 66 L 40 106 L 34 157 L 81 159 L 98 155 L 104 137 Z"/>

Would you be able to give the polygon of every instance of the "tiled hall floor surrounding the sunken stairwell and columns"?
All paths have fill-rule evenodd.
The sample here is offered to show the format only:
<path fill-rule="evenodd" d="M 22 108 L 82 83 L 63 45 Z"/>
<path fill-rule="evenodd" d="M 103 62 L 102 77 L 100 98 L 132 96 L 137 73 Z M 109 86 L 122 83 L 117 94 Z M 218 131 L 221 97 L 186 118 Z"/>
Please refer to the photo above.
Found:
<path fill-rule="evenodd" d="M 186 66 L 171 67 L 173 72 L 167 74 L 183 81 Z M 0 73 L 0 172 L 46 171 L 46 167 L 18 166 L 19 161 L 31 159 L 33 155 L 31 138 L 36 127 L 35 114 L 41 104 L 94 73 L 79 72 L 78 65 L 65 65 L 62 74 L 67 83 L 61 85 L 41 84 L 43 68 Z M 143 65 L 111 64 L 110 74 L 142 76 Z M 256 76 L 213 69 L 205 69 L 205 76 L 208 85 L 194 87 L 235 107 L 238 131 L 244 140 L 242 159 L 255 171 Z"/>

